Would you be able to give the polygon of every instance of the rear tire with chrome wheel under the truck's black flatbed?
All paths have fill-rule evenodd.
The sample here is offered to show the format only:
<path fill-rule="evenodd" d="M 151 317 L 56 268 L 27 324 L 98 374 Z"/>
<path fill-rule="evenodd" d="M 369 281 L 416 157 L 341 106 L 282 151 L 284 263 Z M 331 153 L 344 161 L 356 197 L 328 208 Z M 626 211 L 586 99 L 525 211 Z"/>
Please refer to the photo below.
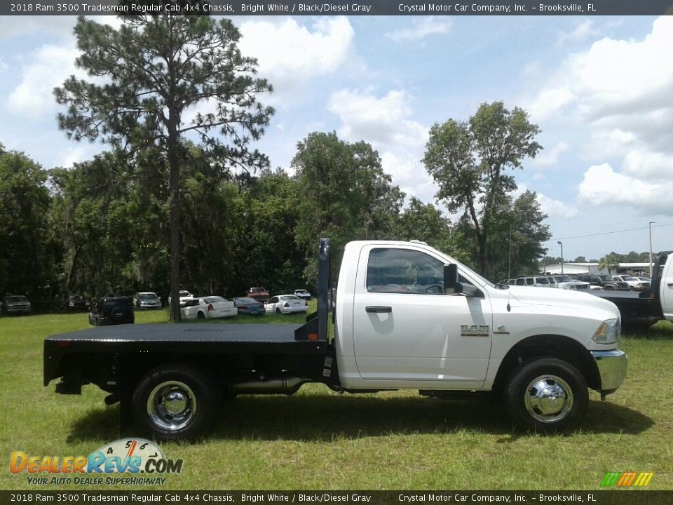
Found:
<path fill-rule="evenodd" d="M 163 365 L 140 381 L 132 396 L 136 423 L 161 440 L 193 439 L 215 420 L 219 388 L 186 365 Z"/>

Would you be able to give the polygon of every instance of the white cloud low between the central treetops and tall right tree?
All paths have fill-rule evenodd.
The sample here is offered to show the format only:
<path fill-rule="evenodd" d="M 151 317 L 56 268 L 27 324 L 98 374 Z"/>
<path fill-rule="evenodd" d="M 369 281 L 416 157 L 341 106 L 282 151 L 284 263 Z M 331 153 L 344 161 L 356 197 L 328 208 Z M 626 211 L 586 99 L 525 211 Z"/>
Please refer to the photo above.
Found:
<path fill-rule="evenodd" d="M 396 147 L 422 151 L 428 128 L 409 119 L 412 107 L 404 91 L 391 90 L 378 97 L 372 91 L 339 90 L 327 108 L 341 119 L 339 135 L 347 140 L 365 140 L 374 147 Z"/>

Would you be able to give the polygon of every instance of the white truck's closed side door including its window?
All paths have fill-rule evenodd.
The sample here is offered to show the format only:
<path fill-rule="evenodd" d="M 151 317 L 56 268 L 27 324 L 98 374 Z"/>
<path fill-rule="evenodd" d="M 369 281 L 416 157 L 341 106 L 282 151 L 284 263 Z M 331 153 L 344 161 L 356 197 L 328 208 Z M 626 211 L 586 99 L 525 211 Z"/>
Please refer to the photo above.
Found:
<path fill-rule="evenodd" d="M 479 382 L 491 353 L 491 305 L 446 295 L 444 262 L 413 247 L 362 248 L 353 346 L 365 379 Z"/>

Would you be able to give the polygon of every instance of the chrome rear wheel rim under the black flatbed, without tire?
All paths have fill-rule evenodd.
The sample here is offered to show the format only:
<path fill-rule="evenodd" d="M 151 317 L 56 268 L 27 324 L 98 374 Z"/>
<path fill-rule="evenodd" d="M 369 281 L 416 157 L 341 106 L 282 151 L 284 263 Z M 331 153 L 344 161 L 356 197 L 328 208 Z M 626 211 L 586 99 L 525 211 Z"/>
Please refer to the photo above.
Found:
<path fill-rule="evenodd" d="M 147 415 L 165 431 L 184 429 L 196 416 L 196 408 L 196 395 L 184 382 L 162 382 L 147 397 Z"/>

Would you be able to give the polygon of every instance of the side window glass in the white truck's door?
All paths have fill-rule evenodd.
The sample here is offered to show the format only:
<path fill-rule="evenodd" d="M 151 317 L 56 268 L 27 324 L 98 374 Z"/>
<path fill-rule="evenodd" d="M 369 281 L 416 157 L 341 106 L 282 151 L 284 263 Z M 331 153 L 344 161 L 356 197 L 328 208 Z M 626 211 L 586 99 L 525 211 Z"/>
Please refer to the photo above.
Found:
<path fill-rule="evenodd" d="M 372 249 L 367 262 L 367 291 L 444 295 L 444 264 L 421 251 Z"/>

